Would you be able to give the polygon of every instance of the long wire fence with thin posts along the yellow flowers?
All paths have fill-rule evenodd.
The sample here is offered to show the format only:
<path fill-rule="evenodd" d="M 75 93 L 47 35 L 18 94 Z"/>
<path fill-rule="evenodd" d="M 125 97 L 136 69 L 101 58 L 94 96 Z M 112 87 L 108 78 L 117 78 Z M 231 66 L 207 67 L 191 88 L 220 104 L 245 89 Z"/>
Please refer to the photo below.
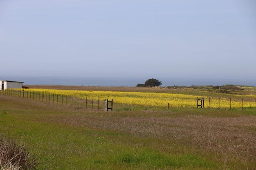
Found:
<path fill-rule="evenodd" d="M 80 93 L 80 92 L 79 92 Z M 79 93 L 76 93 L 79 95 Z M 93 92 L 88 92 L 92 93 Z M 88 94 L 87 93 L 87 94 Z M 77 97 L 74 94 L 67 93 L 67 95 L 64 95 L 65 93 L 58 94 L 54 92 L 47 92 L 47 91 L 33 91 L 32 89 L 25 90 L 25 89 L 7 89 L 7 90 L 2 90 L 0 91 L 0 94 L 4 95 L 13 95 L 17 97 L 24 97 L 24 98 L 30 98 L 34 100 L 39 100 L 39 101 L 45 101 L 45 102 L 53 102 L 53 103 L 58 103 L 62 105 L 67 105 L 67 106 L 75 106 L 78 108 L 88 108 L 88 109 L 105 109 L 105 97 L 102 99 L 102 96 L 99 98 L 94 95 L 94 97 L 88 95 L 89 97 Z M 143 93 L 144 95 L 145 93 Z M 116 95 L 116 93 L 115 93 Z M 133 94 L 134 95 L 134 94 Z M 132 95 L 132 96 L 133 96 Z M 151 94 L 152 95 L 152 94 Z M 153 94 L 157 95 L 157 94 Z M 160 98 L 164 98 L 163 95 L 166 94 L 161 94 Z M 131 96 L 131 95 L 130 95 Z M 118 104 L 127 104 L 127 105 L 139 105 L 139 106 L 145 106 L 145 107 L 166 107 L 166 104 L 168 103 L 168 108 L 197 108 L 197 97 L 191 96 L 189 97 L 176 97 L 175 99 L 173 97 L 166 97 L 166 100 L 159 100 L 157 101 L 156 99 L 153 99 L 154 96 L 150 96 L 149 98 L 144 98 L 144 97 L 137 97 L 136 95 L 134 98 L 130 98 L 130 101 L 128 99 L 124 99 L 124 97 L 115 97 L 115 101 Z M 168 99 L 167 99 L 168 98 Z M 121 101 L 122 99 L 122 101 Z M 150 102 L 149 102 L 150 100 Z M 126 102 L 126 103 L 122 103 Z M 130 103 L 127 103 L 130 102 Z M 169 102 L 170 105 L 169 105 Z M 139 104 L 138 104 L 139 103 Z M 157 103 L 157 104 L 156 104 Z M 200 104 L 200 103 L 198 103 Z M 239 109 L 239 110 L 251 110 L 254 111 L 255 113 L 255 108 L 256 108 L 256 99 L 255 95 L 252 95 L 251 97 L 233 97 L 233 98 L 227 98 L 227 97 L 204 97 L 204 105 L 202 108 L 211 108 L 211 109 L 225 109 L 225 110 L 231 110 L 231 109 Z"/>

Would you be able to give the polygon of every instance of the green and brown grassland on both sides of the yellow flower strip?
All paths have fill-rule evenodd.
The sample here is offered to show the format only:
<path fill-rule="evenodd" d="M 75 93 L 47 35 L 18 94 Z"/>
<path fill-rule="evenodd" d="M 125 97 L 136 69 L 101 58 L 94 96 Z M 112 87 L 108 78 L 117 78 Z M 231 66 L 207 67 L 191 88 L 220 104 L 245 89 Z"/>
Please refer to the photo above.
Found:
<path fill-rule="evenodd" d="M 184 89 L 78 88 L 216 95 Z M 137 107 L 106 112 L 0 94 L 0 132 L 25 145 L 37 170 L 255 169 L 254 109 Z"/>

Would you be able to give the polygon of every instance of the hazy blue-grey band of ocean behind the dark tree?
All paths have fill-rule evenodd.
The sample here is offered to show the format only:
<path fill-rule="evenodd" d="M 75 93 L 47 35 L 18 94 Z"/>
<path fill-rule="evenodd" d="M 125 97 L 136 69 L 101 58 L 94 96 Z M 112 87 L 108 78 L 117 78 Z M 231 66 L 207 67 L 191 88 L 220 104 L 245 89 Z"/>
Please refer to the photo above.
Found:
<path fill-rule="evenodd" d="M 144 84 L 155 78 L 164 86 L 207 86 L 207 85 L 247 85 L 256 86 L 256 79 L 202 79 L 202 78 L 157 78 L 157 77 L 58 77 L 58 76 L 4 76 L 2 80 L 24 82 L 24 85 L 67 85 L 67 86 L 126 86 Z"/>

